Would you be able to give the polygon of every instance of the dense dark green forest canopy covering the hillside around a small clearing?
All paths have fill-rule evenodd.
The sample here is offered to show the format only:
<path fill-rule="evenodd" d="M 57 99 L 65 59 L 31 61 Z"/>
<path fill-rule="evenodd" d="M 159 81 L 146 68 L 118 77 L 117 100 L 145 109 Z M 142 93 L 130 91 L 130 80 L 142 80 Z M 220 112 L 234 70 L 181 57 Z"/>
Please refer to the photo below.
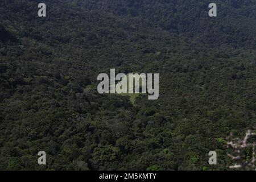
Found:
<path fill-rule="evenodd" d="M 256 1 L 211 2 L 0 1 L 0 170 L 228 169 L 256 126 Z M 159 99 L 98 94 L 110 68 L 159 73 Z"/>

